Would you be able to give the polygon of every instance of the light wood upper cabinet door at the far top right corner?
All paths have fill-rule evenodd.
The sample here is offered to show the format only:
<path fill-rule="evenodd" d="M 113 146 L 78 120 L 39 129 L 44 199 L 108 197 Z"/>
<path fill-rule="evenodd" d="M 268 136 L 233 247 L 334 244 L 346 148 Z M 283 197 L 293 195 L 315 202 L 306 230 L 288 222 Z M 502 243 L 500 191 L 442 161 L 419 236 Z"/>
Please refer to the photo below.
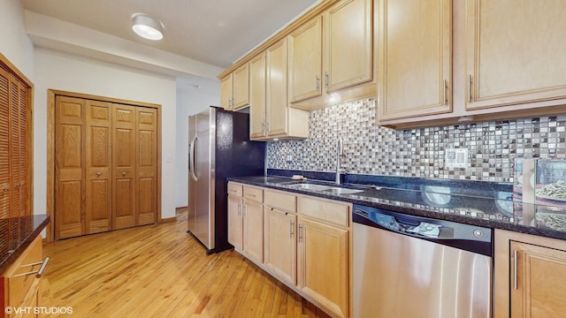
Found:
<path fill-rule="evenodd" d="M 468 110 L 566 98 L 564 11 L 561 0 L 467 1 Z"/>

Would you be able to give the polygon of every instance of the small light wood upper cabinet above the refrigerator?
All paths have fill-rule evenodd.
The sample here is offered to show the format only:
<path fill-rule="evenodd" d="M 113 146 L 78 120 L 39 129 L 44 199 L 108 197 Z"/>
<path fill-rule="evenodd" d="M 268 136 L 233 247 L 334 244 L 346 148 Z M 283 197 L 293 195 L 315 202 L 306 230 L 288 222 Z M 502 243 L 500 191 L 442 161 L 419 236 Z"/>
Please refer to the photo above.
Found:
<path fill-rule="evenodd" d="M 248 105 L 249 65 L 246 63 L 220 79 L 220 107 L 225 110 L 241 110 Z"/>

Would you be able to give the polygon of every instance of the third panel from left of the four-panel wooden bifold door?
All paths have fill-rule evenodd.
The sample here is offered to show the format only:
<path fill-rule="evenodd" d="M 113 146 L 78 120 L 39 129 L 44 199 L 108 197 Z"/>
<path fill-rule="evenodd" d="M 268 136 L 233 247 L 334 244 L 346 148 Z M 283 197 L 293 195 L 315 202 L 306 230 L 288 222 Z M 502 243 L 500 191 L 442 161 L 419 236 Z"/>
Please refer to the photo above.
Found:
<path fill-rule="evenodd" d="M 114 230 L 136 224 L 136 109 L 113 105 L 112 205 Z"/>

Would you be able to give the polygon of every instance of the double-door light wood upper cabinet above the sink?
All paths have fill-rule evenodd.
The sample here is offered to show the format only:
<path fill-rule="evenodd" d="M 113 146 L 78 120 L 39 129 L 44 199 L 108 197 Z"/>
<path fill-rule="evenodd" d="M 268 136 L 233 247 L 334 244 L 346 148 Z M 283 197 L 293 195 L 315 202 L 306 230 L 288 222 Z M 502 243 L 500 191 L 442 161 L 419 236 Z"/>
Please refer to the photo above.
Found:
<path fill-rule="evenodd" d="M 351 89 L 375 79 L 372 4 L 337 1 L 288 35 L 293 107 L 325 107 L 333 103 L 334 92 L 344 99 L 375 93 L 375 85 Z"/>

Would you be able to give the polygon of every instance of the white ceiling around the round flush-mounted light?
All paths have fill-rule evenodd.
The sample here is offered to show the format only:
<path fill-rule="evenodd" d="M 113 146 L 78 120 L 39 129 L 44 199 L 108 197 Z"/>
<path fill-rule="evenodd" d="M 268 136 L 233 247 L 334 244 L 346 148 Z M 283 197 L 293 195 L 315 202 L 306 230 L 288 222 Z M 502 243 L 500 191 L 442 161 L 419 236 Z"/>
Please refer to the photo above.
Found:
<path fill-rule="evenodd" d="M 20 1 L 27 11 L 224 69 L 318 0 Z M 152 42 L 135 35 L 135 13 L 159 19 L 164 40 Z"/>

